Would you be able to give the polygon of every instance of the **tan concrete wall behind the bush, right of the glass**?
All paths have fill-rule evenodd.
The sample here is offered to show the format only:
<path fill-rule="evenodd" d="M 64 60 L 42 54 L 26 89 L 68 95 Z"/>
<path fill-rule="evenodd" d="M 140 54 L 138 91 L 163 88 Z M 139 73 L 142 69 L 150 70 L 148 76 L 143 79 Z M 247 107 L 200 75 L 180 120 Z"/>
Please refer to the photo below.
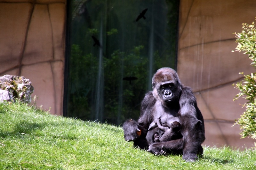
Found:
<path fill-rule="evenodd" d="M 240 139 L 234 124 L 244 109 L 233 101 L 239 90 L 232 84 L 254 72 L 251 61 L 235 50 L 235 32 L 242 23 L 256 17 L 256 1 L 181 0 L 178 47 L 178 74 L 184 85 L 196 93 L 205 120 L 206 145 L 251 147 L 255 140 Z"/>

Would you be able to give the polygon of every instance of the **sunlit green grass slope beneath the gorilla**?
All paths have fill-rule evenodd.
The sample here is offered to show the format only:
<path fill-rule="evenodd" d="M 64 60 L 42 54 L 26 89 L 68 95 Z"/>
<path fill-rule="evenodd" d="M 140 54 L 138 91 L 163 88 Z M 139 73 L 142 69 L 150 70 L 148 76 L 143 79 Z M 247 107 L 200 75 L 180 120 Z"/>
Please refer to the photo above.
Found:
<path fill-rule="evenodd" d="M 230 147 L 204 147 L 203 158 L 193 163 L 179 155 L 155 156 L 125 142 L 121 127 L 0 103 L 0 169 L 217 170 L 254 169 L 255 164 L 254 149 Z"/>

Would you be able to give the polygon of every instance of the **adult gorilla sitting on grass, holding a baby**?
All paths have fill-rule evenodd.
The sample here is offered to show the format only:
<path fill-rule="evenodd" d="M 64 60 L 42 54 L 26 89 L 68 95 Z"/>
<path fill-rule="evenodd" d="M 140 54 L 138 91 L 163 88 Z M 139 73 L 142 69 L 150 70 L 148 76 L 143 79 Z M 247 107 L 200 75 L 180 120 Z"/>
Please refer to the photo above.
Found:
<path fill-rule="evenodd" d="M 124 139 L 134 146 L 156 155 L 182 153 L 182 158 L 195 161 L 203 153 L 204 119 L 197 107 L 190 87 L 183 86 L 178 74 L 171 68 L 161 68 L 152 78 L 153 90 L 146 93 L 141 102 L 138 121 L 127 120 L 123 124 Z M 154 135 L 161 133 L 156 127 L 148 130 L 150 123 L 161 117 L 161 124 L 178 118 L 182 137 L 167 142 L 154 142 Z M 168 127 L 168 125 L 166 125 Z"/>

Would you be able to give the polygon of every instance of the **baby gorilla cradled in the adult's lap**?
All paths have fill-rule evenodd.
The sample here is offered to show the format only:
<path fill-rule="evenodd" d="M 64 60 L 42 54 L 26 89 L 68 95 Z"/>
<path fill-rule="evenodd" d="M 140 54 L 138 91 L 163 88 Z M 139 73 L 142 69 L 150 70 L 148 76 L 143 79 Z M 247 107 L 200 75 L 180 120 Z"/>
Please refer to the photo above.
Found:
<path fill-rule="evenodd" d="M 162 124 L 160 123 L 160 119 L 155 119 L 154 122 L 157 124 L 160 130 L 164 131 L 160 135 L 158 133 L 154 135 L 155 142 L 167 142 L 170 140 L 182 138 L 182 135 L 180 133 L 180 127 L 181 127 L 180 122 L 177 122 L 177 121 L 172 122 L 170 125 L 170 128 L 162 126 Z"/>

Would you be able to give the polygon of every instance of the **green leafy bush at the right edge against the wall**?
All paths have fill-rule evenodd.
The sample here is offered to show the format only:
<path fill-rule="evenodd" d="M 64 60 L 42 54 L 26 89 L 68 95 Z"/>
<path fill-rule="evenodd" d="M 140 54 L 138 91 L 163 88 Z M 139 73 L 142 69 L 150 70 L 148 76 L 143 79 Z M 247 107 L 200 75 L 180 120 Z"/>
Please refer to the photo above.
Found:
<path fill-rule="evenodd" d="M 242 33 L 236 34 L 236 42 L 238 45 L 236 51 L 244 51 L 244 54 L 247 54 L 252 60 L 252 67 L 256 69 L 256 28 L 254 28 L 254 22 L 252 25 L 243 24 Z M 244 75 L 244 73 L 239 73 Z M 239 97 L 244 98 L 247 101 L 243 105 L 246 107 L 245 112 L 241 117 L 236 120 L 236 124 L 240 125 L 240 129 L 243 129 L 240 133 L 241 137 L 252 137 L 256 138 L 256 72 L 249 75 L 244 75 L 244 80 L 236 84 L 236 88 L 240 92 L 236 95 L 234 100 L 237 100 Z"/>

